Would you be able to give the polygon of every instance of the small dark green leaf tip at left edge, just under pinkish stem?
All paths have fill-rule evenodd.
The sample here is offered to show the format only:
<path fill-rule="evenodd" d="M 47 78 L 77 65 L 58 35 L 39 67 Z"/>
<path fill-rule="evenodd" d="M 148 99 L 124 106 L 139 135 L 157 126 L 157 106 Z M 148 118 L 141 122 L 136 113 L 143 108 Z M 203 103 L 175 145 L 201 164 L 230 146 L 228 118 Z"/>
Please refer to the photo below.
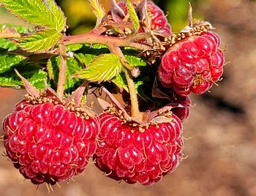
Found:
<path fill-rule="evenodd" d="M 24 61 L 26 58 L 24 56 L 19 56 L 10 53 L 0 53 L 0 74 L 7 72 L 12 69 L 12 67 L 17 66 L 20 62 Z"/>

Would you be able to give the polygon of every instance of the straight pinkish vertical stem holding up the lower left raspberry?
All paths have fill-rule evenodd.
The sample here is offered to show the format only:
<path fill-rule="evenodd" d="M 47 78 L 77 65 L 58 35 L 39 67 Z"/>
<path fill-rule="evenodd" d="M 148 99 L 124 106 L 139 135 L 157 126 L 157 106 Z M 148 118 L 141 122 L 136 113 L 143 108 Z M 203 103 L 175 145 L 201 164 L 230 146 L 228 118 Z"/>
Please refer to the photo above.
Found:
<path fill-rule="evenodd" d="M 63 42 L 59 44 L 59 54 L 60 54 L 61 65 L 59 68 L 59 81 L 57 86 L 57 94 L 59 95 L 60 99 L 63 99 L 64 86 L 65 86 L 65 80 L 66 80 L 66 71 L 67 71 L 66 46 L 63 44 Z"/>

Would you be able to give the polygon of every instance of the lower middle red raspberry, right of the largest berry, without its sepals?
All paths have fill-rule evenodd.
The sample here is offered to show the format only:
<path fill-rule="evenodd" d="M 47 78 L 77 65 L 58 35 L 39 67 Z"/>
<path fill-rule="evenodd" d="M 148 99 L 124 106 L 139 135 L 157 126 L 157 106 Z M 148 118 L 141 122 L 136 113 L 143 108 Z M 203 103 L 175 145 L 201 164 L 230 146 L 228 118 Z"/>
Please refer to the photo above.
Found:
<path fill-rule="evenodd" d="M 159 116 L 158 116 L 159 117 Z M 170 113 L 168 122 L 146 127 L 106 111 L 99 116 L 99 143 L 94 159 L 99 170 L 117 181 L 151 185 L 171 173 L 181 162 L 181 121 Z"/>

